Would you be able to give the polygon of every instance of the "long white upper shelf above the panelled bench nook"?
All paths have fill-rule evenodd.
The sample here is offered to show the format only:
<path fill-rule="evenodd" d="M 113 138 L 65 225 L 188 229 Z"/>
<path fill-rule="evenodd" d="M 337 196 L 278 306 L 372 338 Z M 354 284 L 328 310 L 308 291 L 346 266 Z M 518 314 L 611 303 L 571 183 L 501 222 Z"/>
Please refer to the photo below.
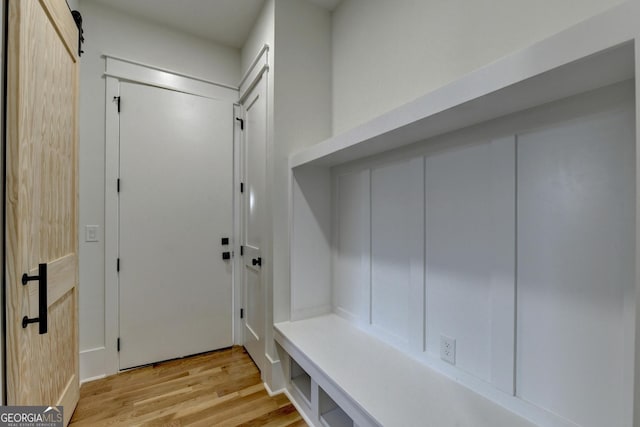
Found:
<path fill-rule="evenodd" d="M 334 166 L 634 78 L 638 9 L 636 2 L 627 1 L 293 153 L 290 166 Z"/>

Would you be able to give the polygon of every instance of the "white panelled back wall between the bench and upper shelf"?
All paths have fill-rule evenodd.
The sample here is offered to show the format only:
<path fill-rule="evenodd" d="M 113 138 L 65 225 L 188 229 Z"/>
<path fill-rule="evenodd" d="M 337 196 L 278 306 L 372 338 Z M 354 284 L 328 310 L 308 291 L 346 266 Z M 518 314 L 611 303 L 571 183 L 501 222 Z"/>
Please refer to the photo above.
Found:
<path fill-rule="evenodd" d="M 632 84 L 334 168 L 333 311 L 463 382 L 624 425 Z"/>

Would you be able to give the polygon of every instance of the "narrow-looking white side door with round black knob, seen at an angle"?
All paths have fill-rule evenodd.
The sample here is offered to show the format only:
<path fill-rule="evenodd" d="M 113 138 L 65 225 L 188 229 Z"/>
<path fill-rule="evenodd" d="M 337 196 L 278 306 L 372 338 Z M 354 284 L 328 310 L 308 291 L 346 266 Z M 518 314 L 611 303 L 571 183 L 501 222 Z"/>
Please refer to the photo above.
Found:
<path fill-rule="evenodd" d="M 265 301 L 262 249 L 265 243 L 265 180 L 267 100 L 265 78 L 251 90 L 244 103 L 243 139 L 244 221 L 244 342 L 249 355 L 262 370 L 264 365 Z"/>

